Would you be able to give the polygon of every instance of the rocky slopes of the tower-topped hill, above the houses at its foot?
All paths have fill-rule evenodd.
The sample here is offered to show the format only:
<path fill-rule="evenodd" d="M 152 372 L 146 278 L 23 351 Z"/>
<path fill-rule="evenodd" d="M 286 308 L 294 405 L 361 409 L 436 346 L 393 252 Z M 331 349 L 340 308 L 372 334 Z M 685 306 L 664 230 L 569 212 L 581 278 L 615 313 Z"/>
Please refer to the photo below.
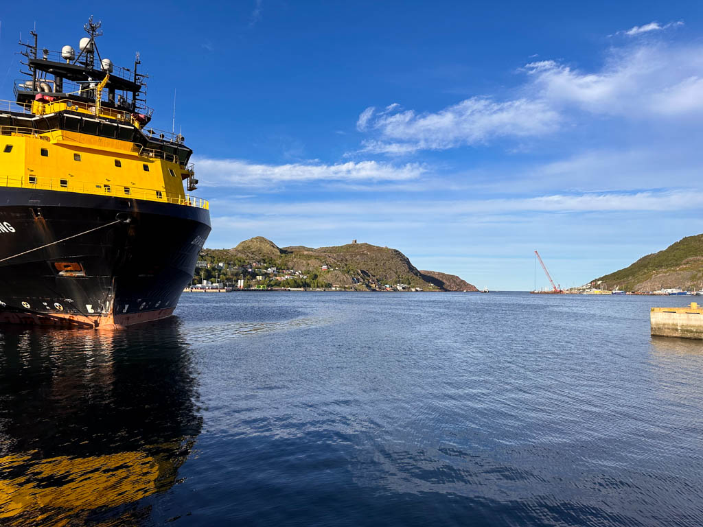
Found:
<path fill-rule="evenodd" d="M 271 240 L 257 236 L 241 242 L 228 251 L 203 249 L 202 254 L 217 255 L 218 259 L 243 259 L 280 270 L 299 271 L 316 275 L 330 284 L 355 289 L 383 289 L 405 284 L 425 291 L 476 291 L 458 276 L 418 271 L 411 261 L 397 249 L 378 247 L 368 243 L 351 243 L 334 247 L 278 247 Z"/>

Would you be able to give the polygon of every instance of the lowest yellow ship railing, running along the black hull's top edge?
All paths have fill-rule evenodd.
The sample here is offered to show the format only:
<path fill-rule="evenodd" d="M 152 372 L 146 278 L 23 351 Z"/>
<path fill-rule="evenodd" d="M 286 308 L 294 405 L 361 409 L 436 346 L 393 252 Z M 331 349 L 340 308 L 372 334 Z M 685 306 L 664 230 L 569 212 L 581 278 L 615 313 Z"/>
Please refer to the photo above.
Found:
<path fill-rule="evenodd" d="M 174 203 L 186 207 L 209 209 L 207 200 L 188 194 L 169 193 L 163 189 L 140 188 L 135 186 L 115 185 L 114 183 L 98 183 L 93 181 L 75 181 L 73 176 L 56 178 L 37 176 L 32 173 L 25 176 L 0 175 L 0 187 L 32 188 L 37 190 L 58 190 L 80 194 L 105 195 L 112 197 L 132 197 L 137 200 L 147 200 L 162 203 Z"/>

